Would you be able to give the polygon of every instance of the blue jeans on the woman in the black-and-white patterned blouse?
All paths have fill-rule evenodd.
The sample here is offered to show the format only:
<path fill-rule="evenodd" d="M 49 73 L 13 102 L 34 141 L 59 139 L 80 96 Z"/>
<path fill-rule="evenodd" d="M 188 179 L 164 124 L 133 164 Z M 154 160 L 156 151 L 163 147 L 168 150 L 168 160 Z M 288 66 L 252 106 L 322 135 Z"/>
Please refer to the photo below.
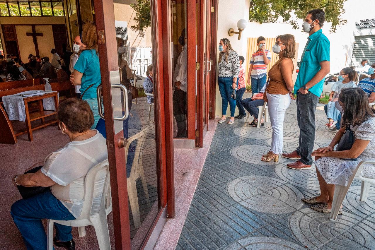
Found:
<path fill-rule="evenodd" d="M 236 100 L 234 100 L 231 95 L 233 93 L 232 83 L 233 77 L 217 77 L 217 81 L 219 82 L 219 91 L 220 96 L 222 99 L 221 108 L 223 115 L 226 115 L 226 109 L 229 107 L 231 109 L 231 117 L 234 117 L 234 112 L 236 111 Z M 237 86 L 238 86 L 238 78 L 237 78 Z"/>

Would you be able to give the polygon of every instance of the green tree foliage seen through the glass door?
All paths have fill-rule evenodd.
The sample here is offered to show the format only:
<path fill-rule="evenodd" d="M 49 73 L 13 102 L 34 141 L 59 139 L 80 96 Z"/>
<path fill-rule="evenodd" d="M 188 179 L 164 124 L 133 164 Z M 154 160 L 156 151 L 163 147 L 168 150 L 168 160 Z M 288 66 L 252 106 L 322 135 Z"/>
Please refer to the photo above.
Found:
<path fill-rule="evenodd" d="M 150 0 L 138 0 L 138 4 L 130 4 L 133 8 L 135 16 L 133 20 L 136 22 L 130 28 L 139 31 L 139 36 L 144 37 L 144 29 L 151 26 L 151 6 Z"/>

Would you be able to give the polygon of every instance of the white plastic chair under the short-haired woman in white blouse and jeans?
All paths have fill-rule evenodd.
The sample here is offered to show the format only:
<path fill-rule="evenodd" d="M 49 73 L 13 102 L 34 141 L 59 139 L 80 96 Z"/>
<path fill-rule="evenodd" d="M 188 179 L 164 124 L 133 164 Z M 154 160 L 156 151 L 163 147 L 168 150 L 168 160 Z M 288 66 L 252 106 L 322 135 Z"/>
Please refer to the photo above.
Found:
<path fill-rule="evenodd" d="M 96 181 L 95 181 L 96 180 Z M 95 185 L 95 182 L 98 184 Z M 75 220 L 48 220 L 47 222 L 47 244 L 48 250 L 53 247 L 53 223 L 58 223 L 65 226 L 79 227 L 79 233 L 84 233 L 84 226 L 94 226 L 96 237 L 98 238 L 99 249 L 111 249 L 110 234 L 108 231 L 106 200 L 110 203 L 110 172 L 108 168 L 108 159 L 94 166 L 87 173 L 84 184 L 84 200 L 83 208 L 80 217 Z M 101 192 L 102 197 L 100 202 L 94 200 L 95 193 Z M 96 196 L 98 197 L 98 196 Z M 112 205 L 109 205 L 107 210 L 109 213 L 112 210 Z M 83 231 L 82 231 L 83 230 Z"/>

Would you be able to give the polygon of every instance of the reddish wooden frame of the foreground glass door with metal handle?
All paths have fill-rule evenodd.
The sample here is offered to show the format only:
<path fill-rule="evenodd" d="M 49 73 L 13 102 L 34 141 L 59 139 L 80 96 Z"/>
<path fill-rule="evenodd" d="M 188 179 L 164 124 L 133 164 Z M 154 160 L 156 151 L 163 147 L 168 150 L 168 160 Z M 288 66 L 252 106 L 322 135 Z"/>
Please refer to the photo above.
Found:
<path fill-rule="evenodd" d="M 98 45 L 99 58 L 101 58 L 102 93 L 105 114 L 113 114 L 111 103 L 110 72 L 118 70 L 114 6 L 113 0 L 93 0 L 95 7 L 95 21 L 98 33 L 104 33 L 105 42 Z M 154 27 L 153 32 L 156 64 L 154 80 L 154 111 L 155 111 L 155 144 L 156 144 L 156 169 L 159 212 L 153 225 L 145 236 L 141 248 L 147 244 L 155 225 L 164 212 L 168 202 L 168 216 L 174 216 L 174 158 L 173 158 L 173 129 L 172 129 L 172 77 L 169 40 L 163 39 L 169 34 L 169 0 L 151 0 L 151 10 Z M 105 14 L 104 14 L 105 13 Z M 160 13 L 160 15 L 159 15 Z M 161 33 L 159 33 L 162 31 Z M 161 34 L 159 36 L 159 34 Z M 157 42 L 156 42 L 157 40 Z M 168 54 L 169 52 L 169 54 Z M 165 60 L 166 58 L 166 60 Z M 169 67 L 166 67 L 169 65 Z M 162 80 L 159 80 L 162 79 Z M 165 112 L 165 108 L 168 108 Z M 125 152 L 118 148 L 121 132 L 114 134 L 114 121 L 106 119 L 108 162 L 110 165 L 111 194 L 113 206 L 113 227 L 116 249 L 131 249 L 129 208 L 126 184 Z M 168 155 L 168 157 L 166 157 Z M 170 204 L 169 204 L 170 202 Z"/>

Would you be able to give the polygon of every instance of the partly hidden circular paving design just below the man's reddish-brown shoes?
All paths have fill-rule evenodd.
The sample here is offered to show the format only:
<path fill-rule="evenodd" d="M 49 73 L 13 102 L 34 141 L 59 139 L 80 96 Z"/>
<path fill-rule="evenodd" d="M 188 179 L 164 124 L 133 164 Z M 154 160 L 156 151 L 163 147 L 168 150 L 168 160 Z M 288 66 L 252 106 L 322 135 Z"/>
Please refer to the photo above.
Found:
<path fill-rule="evenodd" d="M 295 170 L 283 164 L 276 165 L 275 173 L 281 180 L 291 181 L 293 186 L 307 190 L 318 191 L 319 181 L 315 172 L 315 165 L 311 169 Z"/>

